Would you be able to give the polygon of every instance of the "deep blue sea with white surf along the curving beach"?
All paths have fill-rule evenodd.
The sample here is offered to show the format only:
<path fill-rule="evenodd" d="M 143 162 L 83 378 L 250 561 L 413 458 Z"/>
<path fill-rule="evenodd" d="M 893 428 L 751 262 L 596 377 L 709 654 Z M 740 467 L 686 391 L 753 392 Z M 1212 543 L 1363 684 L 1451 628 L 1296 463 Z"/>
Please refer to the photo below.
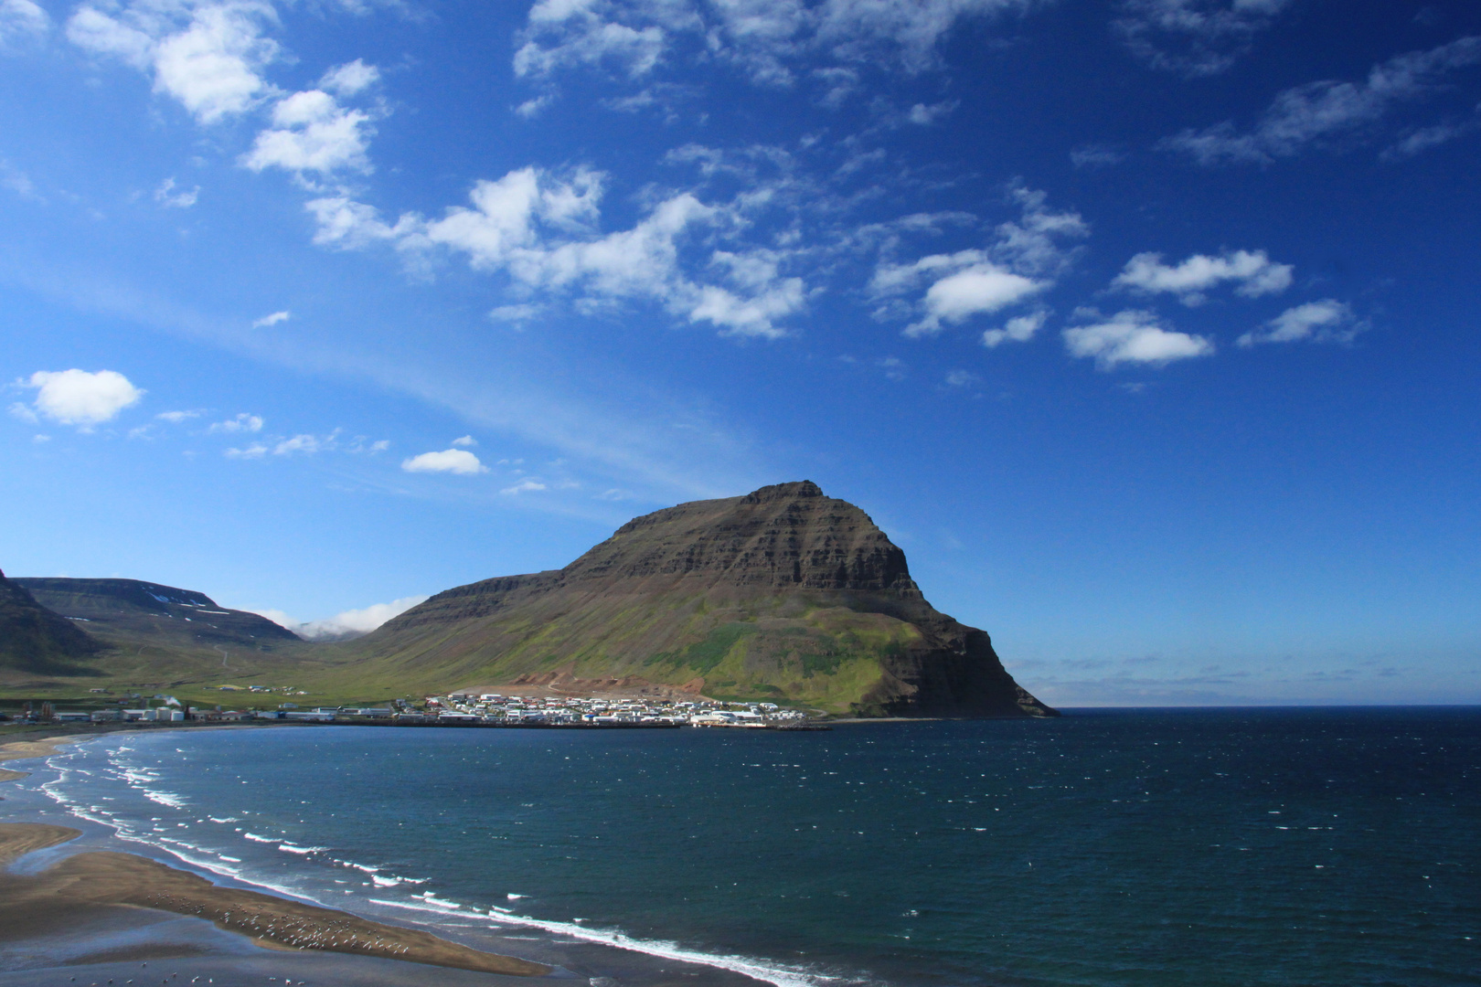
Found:
<path fill-rule="evenodd" d="M 367 914 L 778 984 L 1481 983 L 1481 709 L 113 734 L 22 786 Z"/>

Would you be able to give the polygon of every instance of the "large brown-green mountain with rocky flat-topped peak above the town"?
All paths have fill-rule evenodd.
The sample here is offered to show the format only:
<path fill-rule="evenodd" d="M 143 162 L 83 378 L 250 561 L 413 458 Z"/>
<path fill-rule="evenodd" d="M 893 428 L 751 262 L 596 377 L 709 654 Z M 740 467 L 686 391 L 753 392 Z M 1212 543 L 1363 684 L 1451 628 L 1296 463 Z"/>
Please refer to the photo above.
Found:
<path fill-rule="evenodd" d="M 926 602 L 866 513 L 806 481 L 635 518 L 563 570 L 449 589 L 341 661 L 424 688 L 626 681 L 840 713 L 1054 715 L 986 633 Z"/>

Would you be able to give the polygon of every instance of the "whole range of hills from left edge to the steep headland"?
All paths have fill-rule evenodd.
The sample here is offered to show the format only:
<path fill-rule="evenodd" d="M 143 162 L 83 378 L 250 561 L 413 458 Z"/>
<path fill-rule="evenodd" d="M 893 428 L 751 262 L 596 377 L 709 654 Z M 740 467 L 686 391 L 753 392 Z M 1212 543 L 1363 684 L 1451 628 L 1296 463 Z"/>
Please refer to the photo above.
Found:
<path fill-rule="evenodd" d="M 348 642 L 305 642 L 138 580 L 0 577 L 0 688 L 12 691 L 43 678 L 230 678 L 364 698 L 533 685 L 863 716 L 1056 715 L 985 632 L 926 602 L 863 511 L 807 481 L 634 518 L 566 568 L 449 589 Z"/>

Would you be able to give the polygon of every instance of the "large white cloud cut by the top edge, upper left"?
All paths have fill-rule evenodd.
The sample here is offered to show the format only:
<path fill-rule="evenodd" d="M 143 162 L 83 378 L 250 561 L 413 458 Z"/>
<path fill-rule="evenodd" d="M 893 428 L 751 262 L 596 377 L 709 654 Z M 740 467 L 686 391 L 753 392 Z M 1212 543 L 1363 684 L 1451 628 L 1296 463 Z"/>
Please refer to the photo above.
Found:
<path fill-rule="evenodd" d="M 274 93 L 261 70 L 278 55 L 264 28 L 277 24 L 265 0 L 84 3 L 67 37 L 154 77 L 154 90 L 181 102 L 201 123 L 252 110 Z"/>

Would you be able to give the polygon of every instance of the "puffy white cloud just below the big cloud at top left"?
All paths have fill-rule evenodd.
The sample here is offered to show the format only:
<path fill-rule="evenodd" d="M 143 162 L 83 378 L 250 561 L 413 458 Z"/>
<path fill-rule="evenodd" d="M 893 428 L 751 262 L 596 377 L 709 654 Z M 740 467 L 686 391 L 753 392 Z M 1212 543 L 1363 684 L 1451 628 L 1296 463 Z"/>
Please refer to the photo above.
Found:
<path fill-rule="evenodd" d="M 308 89 L 281 99 L 273 108 L 273 127 L 258 135 L 241 163 L 253 172 L 280 167 L 286 172 L 329 175 L 341 169 L 369 175 L 370 114 L 347 110 L 321 89 Z"/>

